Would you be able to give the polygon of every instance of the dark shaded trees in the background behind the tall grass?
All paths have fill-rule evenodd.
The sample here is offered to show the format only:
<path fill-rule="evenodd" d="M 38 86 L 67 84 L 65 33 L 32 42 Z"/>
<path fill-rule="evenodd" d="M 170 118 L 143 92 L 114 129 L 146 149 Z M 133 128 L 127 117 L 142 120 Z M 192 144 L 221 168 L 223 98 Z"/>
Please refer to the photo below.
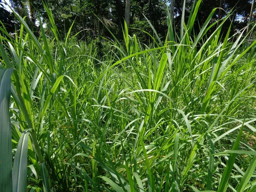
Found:
<path fill-rule="evenodd" d="M 166 37 L 168 30 L 167 14 L 172 0 L 131 0 L 130 11 L 130 33 L 136 32 L 142 41 L 147 41 L 146 31 L 153 35 L 153 30 L 149 20 L 154 26 L 160 38 Z M 0 1 L 1 2 L 1 1 Z M 125 0 L 11 0 L 12 8 L 20 16 L 26 17 L 26 22 L 35 30 L 36 20 L 40 16 L 44 23 L 49 23 L 47 14 L 44 9 L 44 3 L 51 10 L 55 19 L 55 24 L 62 36 L 67 32 L 72 23 L 72 34 L 82 31 L 77 38 L 79 40 L 89 41 L 99 36 L 111 38 L 110 29 L 113 34 L 121 39 L 122 28 L 125 19 Z M 43 3 L 44 2 L 44 3 Z M 181 15 L 184 0 L 174 1 L 174 28 L 180 29 Z M 185 0 L 185 22 L 189 17 L 191 6 L 195 1 Z M 221 3 L 221 4 L 220 4 Z M 225 17 L 232 11 L 232 17 L 223 27 L 223 32 L 227 30 L 232 23 L 231 32 L 235 33 L 239 29 L 247 26 L 251 0 L 202 0 L 197 15 L 197 24 L 194 26 L 194 32 L 200 31 L 201 26 L 207 19 L 212 9 L 221 6 L 221 11 L 215 11 L 211 21 L 214 23 L 218 17 Z M 13 14 L 6 11 L 3 6 L 0 8 L 0 19 L 8 28 L 9 32 L 13 31 L 14 22 Z M 126 7 L 127 9 L 127 7 Z M 220 14 L 220 15 L 219 15 Z M 255 20 L 255 15 L 253 17 Z"/>

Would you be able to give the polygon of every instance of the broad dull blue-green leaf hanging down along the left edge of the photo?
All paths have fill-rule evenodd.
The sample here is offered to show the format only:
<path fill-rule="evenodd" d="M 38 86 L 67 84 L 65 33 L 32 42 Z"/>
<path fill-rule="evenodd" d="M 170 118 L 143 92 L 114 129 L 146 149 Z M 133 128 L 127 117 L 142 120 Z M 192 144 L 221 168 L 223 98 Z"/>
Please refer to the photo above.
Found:
<path fill-rule="evenodd" d="M 12 192 L 12 130 L 9 116 L 12 69 L 0 70 L 0 191 Z"/>

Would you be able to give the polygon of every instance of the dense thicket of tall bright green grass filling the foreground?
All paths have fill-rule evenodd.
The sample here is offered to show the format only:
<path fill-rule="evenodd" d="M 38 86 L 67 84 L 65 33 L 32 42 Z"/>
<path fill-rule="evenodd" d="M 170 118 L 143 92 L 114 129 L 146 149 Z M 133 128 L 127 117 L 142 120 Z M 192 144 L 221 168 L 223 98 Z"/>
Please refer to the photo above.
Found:
<path fill-rule="evenodd" d="M 0 191 L 255 192 L 256 41 L 199 4 L 150 45 L 1 26 Z"/>

